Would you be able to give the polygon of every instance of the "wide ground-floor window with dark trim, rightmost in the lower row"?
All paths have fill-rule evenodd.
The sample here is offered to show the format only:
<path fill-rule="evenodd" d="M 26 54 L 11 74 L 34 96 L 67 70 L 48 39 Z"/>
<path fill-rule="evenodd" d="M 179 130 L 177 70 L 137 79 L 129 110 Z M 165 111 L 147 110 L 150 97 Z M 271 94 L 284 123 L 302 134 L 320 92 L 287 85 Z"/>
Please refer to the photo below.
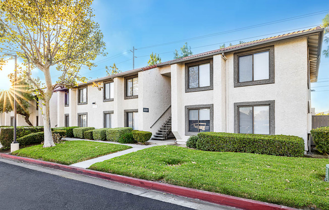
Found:
<path fill-rule="evenodd" d="M 275 134 L 274 100 L 240 102 L 235 106 L 235 133 Z"/>

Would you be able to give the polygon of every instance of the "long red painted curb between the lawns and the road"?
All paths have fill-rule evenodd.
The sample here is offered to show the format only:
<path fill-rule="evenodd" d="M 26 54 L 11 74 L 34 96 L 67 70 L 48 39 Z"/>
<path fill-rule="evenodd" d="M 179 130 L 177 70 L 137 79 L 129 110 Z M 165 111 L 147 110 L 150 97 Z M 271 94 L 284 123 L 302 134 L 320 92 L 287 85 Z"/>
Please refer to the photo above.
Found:
<path fill-rule="evenodd" d="M 233 206 L 241 209 L 248 210 L 296 210 L 296 208 L 281 206 L 272 203 L 266 203 L 256 200 L 250 200 L 246 198 L 235 197 L 231 195 L 224 195 L 214 192 L 207 192 L 202 190 L 196 190 L 187 187 L 180 187 L 171 184 L 147 181 L 143 179 L 137 179 L 132 177 L 121 176 L 117 174 L 110 174 L 105 172 L 93 171 L 89 169 L 82 169 L 73 166 L 67 166 L 57 163 L 51 163 L 46 161 L 40 161 L 30 158 L 23 158 L 16 155 L 0 153 L 1 158 L 11 159 L 15 161 L 22 161 L 29 164 L 35 164 L 39 166 L 45 166 L 53 169 L 60 169 L 63 171 L 75 173 L 75 174 L 84 174 L 91 177 L 97 177 L 101 179 L 111 180 L 115 182 L 120 182 L 124 184 L 129 184 L 137 187 L 143 187 L 146 189 L 157 190 L 162 192 L 167 192 L 175 195 L 180 195 L 189 198 L 197 198 L 207 202 L 217 203 L 221 205 Z"/>

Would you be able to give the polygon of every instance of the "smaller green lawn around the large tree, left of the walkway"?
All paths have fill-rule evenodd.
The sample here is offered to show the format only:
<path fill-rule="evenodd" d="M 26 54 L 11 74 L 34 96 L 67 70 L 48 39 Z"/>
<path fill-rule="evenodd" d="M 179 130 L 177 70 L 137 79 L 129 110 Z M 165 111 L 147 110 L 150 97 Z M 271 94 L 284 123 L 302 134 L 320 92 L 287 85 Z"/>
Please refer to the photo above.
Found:
<path fill-rule="evenodd" d="M 27 158 L 40 159 L 59 164 L 71 165 L 105 154 L 132 148 L 120 144 L 93 141 L 64 141 L 56 146 L 43 148 L 42 144 L 19 149 L 12 154 Z"/>

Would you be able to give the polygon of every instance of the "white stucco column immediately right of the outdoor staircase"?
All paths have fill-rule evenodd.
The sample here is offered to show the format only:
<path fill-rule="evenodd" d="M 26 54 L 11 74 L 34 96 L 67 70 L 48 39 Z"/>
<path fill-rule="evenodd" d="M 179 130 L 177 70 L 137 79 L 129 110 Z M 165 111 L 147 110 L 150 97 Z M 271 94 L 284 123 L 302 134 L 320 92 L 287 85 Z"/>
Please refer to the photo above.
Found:
<path fill-rule="evenodd" d="M 182 102 L 181 102 L 181 91 L 182 91 L 182 72 L 180 65 L 171 65 L 171 85 L 172 85 L 172 132 L 175 135 L 177 141 L 182 141 L 180 131 L 184 129 L 184 117 L 182 118 Z M 184 79 L 183 79 L 184 80 Z"/>

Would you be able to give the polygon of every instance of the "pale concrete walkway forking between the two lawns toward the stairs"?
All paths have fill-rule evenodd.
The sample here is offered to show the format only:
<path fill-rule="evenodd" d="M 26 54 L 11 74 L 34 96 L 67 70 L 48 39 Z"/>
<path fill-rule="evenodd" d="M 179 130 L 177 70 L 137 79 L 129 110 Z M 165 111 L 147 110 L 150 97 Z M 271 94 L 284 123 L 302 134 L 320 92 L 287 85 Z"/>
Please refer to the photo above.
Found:
<path fill-rule="evenodd" d="M 81 139 L 81 138 L 65 138 L 65 140 L 68 140 L 68 141 L 78 141 L 78 140 L 79 141 L 81 141 L 81 140 L 83 140 L 83 141 L 95 141 L 95 140 L 88 140 L 88 139 Z M 113 141 L 98 141 L 98 142 L 112 143 L 112 144 L 121 144 L 121 143 L 113 142 Z M 150 143 L 153 143 L 153 142 L 150 142 Z M 121 144 L 121 145 L 131 146 L 133 148 L 126 149 L 126 150 L 123 150 L 123 151 L 118 151 L 118 152 L 111 153 L 111 154 L 107 154 L 107 155 L 100 156 L 98 158 L 90 159 L 90 160 L 87 160 L 87 161 L 83 161 L 83 162 L 80 162 L 80 163 L 72 164 L 71 166 L 75 166 L 75 167 L 87 169 L 91 165 L 93 165 L 94 163 L 103 162 L 103 161 L 106 161 L 106 160 L 109 160 L 109 159 L 113 159 L 113 158 L 116 158 L 116 157 L 121 156 L 121 155 L 124 155 L 124 154 L 128 154 L 128 153 L 131 153 L 131 152 L 135 152 L 135 151 L 141 150 L 141 149 L 146 149 L 146 148 L 149 148 L 149 147 L 152 147 L 152 146 L 173 145 L 173 144 L 175 144 L 174 140 L 158 141 L 156 143 L 149 144 L 149 145 L 142 145 L 142 144 Z"/>

